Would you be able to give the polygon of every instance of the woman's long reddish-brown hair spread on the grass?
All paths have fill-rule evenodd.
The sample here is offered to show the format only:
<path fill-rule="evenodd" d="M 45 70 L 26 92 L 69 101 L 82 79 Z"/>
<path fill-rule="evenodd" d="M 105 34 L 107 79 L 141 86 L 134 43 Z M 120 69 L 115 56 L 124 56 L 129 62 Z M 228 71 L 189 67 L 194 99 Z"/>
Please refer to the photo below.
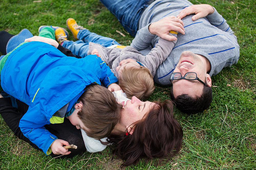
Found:
<path fill-rule="evenodd" d="M 170 100 L 155 102 L 145 118 L 135 122 L 132 135 L 111 135 L 108 143 L 115 144 L 116 155 L 125 162 L 123 166 L 137 163 L 144 158 L 165 158 L 179 152 L 183 130 L 173 117 L 173 103 Z"/>

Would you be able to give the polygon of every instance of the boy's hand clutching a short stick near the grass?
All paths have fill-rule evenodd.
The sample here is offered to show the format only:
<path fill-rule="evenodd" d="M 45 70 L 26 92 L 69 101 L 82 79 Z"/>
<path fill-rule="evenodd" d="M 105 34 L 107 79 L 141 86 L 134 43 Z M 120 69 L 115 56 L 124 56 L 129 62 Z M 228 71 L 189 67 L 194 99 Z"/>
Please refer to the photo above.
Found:
<path fill-rule="evenodd" d="M 59 154 L 68 155 L 68 154 L 70 154 L 71 152 L 68 151 L 68 149 L 65 149 L 63 147 L 63 145 L 67 146 L 67 145 L 69 145 L 69 143 L 65 140 L 56 139 L 54 142 L 52 142 L 52 144 L 50 146 L 52 153 L 54 153 L 55 155 L 59 155 Z"/>

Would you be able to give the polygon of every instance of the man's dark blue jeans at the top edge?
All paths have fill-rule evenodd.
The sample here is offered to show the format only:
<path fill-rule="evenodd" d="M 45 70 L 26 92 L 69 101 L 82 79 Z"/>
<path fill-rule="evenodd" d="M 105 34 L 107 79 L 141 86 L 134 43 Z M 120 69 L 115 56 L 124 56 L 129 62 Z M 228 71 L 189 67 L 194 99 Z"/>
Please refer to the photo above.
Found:
<path fill-rule="evenodd" d="M 100 0 L 118 19 L 123 27 L 135 37 L 143 9 L 150 0 Z"/>

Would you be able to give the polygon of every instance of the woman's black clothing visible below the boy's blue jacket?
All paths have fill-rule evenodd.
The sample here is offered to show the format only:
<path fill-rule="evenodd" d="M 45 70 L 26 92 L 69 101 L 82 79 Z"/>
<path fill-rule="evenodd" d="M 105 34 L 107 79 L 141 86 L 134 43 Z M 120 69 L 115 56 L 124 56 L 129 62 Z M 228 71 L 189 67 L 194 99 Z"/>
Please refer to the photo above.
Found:
<path fill-rule="evenodd" d="M 14 132 L 14 135 L 16 135 L 19 139 L 29 143 L 32 147 L 41 150 L 21 132 L 19 128 L 19 121 L 26 113 L 28 105 L 17 99 L 16 101 L 18 104 L 18 109 L 12 106 L 12 101 L 9 97 L 0 98 L 0 114 L 2 115 L 9 128 Z M 63 123 L 49 124 L 45 125 L 45 127 L 47 130 L 49 130 L 50 133 L 54 134 L 59 139 L 66 140 L 69 142 L 69 144 L 74 144 L 78 147 L 78 149 L 69 149 L 71 151 L 70 154 L 63 155 L 59 158 L 70 158 L 86 151 L 81 130 L 72 125 L 67 118 L 64 119 Z M 52 157 L 60 156 L 53 153 L 50 155 Z"/>

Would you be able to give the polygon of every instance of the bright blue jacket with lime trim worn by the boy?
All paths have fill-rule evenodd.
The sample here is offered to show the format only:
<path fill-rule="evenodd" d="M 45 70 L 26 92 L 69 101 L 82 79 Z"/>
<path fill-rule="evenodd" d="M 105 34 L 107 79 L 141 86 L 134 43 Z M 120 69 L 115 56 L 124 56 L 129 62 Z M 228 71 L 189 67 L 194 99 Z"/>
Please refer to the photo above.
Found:
<path fill-rule="evenodd" d="M 12 51 L 1 72 L 3 90 L 29 105 L 19 123 L 21 131 L 46 154 L 57 137 L 44 125 L 62 123 L 87 85 L 102 82 L 108 87 L 117 81 L 96 55 L 67 57 L 42 42 L 25 43 Z"/>

